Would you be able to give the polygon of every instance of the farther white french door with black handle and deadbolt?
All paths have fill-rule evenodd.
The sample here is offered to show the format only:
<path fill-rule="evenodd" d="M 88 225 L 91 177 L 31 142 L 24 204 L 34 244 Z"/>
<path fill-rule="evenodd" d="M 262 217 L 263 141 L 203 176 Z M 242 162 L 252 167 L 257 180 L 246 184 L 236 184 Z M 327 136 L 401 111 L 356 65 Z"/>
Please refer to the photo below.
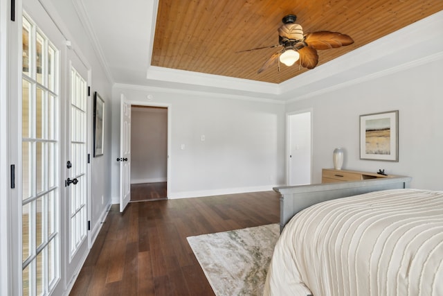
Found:
<path fill-rule="evenodd" d="M 66 104 L 66 281 L 80 269 L 88 252 L 88 69 L 74 51 L 68 51 L 68 95 Z"/>

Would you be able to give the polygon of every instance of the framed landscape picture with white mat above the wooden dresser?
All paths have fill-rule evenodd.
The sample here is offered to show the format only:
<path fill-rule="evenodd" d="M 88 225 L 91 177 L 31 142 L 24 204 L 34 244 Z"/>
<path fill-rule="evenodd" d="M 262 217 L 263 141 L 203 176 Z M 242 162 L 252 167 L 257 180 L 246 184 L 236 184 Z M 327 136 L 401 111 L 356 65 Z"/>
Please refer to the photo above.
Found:
<path fill-rule="evenodd" d="M 399 111 L 360 115 L 360 159 L 399 161 Z"/>

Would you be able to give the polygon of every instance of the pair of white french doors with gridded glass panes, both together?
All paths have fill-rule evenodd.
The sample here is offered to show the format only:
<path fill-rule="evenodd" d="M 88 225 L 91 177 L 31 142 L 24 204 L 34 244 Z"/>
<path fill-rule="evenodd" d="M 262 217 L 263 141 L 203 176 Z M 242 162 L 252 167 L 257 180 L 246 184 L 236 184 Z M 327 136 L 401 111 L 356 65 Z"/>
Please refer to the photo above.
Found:
<path fill-rule="evenodd" d="M 17 184 L 10 190 L 10 290 L 62 295 L 89 251 L 90 72 L 40 2 L 21 3 L 12 37 L 21 45 L 11 58 L 19 73 L 10 70 L 19 90 L 10 100 Z"/>

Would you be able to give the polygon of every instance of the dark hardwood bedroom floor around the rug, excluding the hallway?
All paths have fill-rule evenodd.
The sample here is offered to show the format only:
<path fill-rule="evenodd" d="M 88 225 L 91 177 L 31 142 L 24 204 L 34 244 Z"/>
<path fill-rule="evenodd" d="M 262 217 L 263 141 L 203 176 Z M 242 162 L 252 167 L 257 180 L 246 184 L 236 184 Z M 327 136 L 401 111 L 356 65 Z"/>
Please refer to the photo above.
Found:
<path fill-rule="evenodd" d="M 273 191 L 113 205 L 70 295 L 214 295 L 186 237 L 279 221 Z"/>

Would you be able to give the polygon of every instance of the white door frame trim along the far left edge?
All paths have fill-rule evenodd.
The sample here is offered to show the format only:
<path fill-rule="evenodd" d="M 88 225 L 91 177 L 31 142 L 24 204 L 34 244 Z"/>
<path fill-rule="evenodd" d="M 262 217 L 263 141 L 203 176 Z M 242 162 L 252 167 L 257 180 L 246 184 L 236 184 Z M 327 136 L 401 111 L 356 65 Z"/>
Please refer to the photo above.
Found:
<path fill-rule="evenodd" d="M 17 268 L 21 262 L 15 260 L 19 252 L 17 249 L 21 249 L 17 234 L 20 220 L 19 215 L 15 215 L 19 213 L 17 180 L 21 180 L 18 177 L 21 163 L 17 146 L 13 144 L 18 139 L 13 128 L 18 130 L 17 123 L 21 120 L 12 113 L 18 110 L 19 100 L 11 99 L 19 98 L 21 89 L 21 71 L 18 67 L 21 48 L 17 42 L 21 30 L 21 0 L 15 3 L 16 21 L 10 20 L 10 5 L 10 1 L 0 0 L 0 233 L 4 234 L 0 241 L 0 295 L 14 295 L 17 285 L 21 284 L 15 277 L 17 273 L 14 273 L 21 271 L 21 268 Z M 10 188 L 11 164 L 15 165 L 15 189 Z"/>

